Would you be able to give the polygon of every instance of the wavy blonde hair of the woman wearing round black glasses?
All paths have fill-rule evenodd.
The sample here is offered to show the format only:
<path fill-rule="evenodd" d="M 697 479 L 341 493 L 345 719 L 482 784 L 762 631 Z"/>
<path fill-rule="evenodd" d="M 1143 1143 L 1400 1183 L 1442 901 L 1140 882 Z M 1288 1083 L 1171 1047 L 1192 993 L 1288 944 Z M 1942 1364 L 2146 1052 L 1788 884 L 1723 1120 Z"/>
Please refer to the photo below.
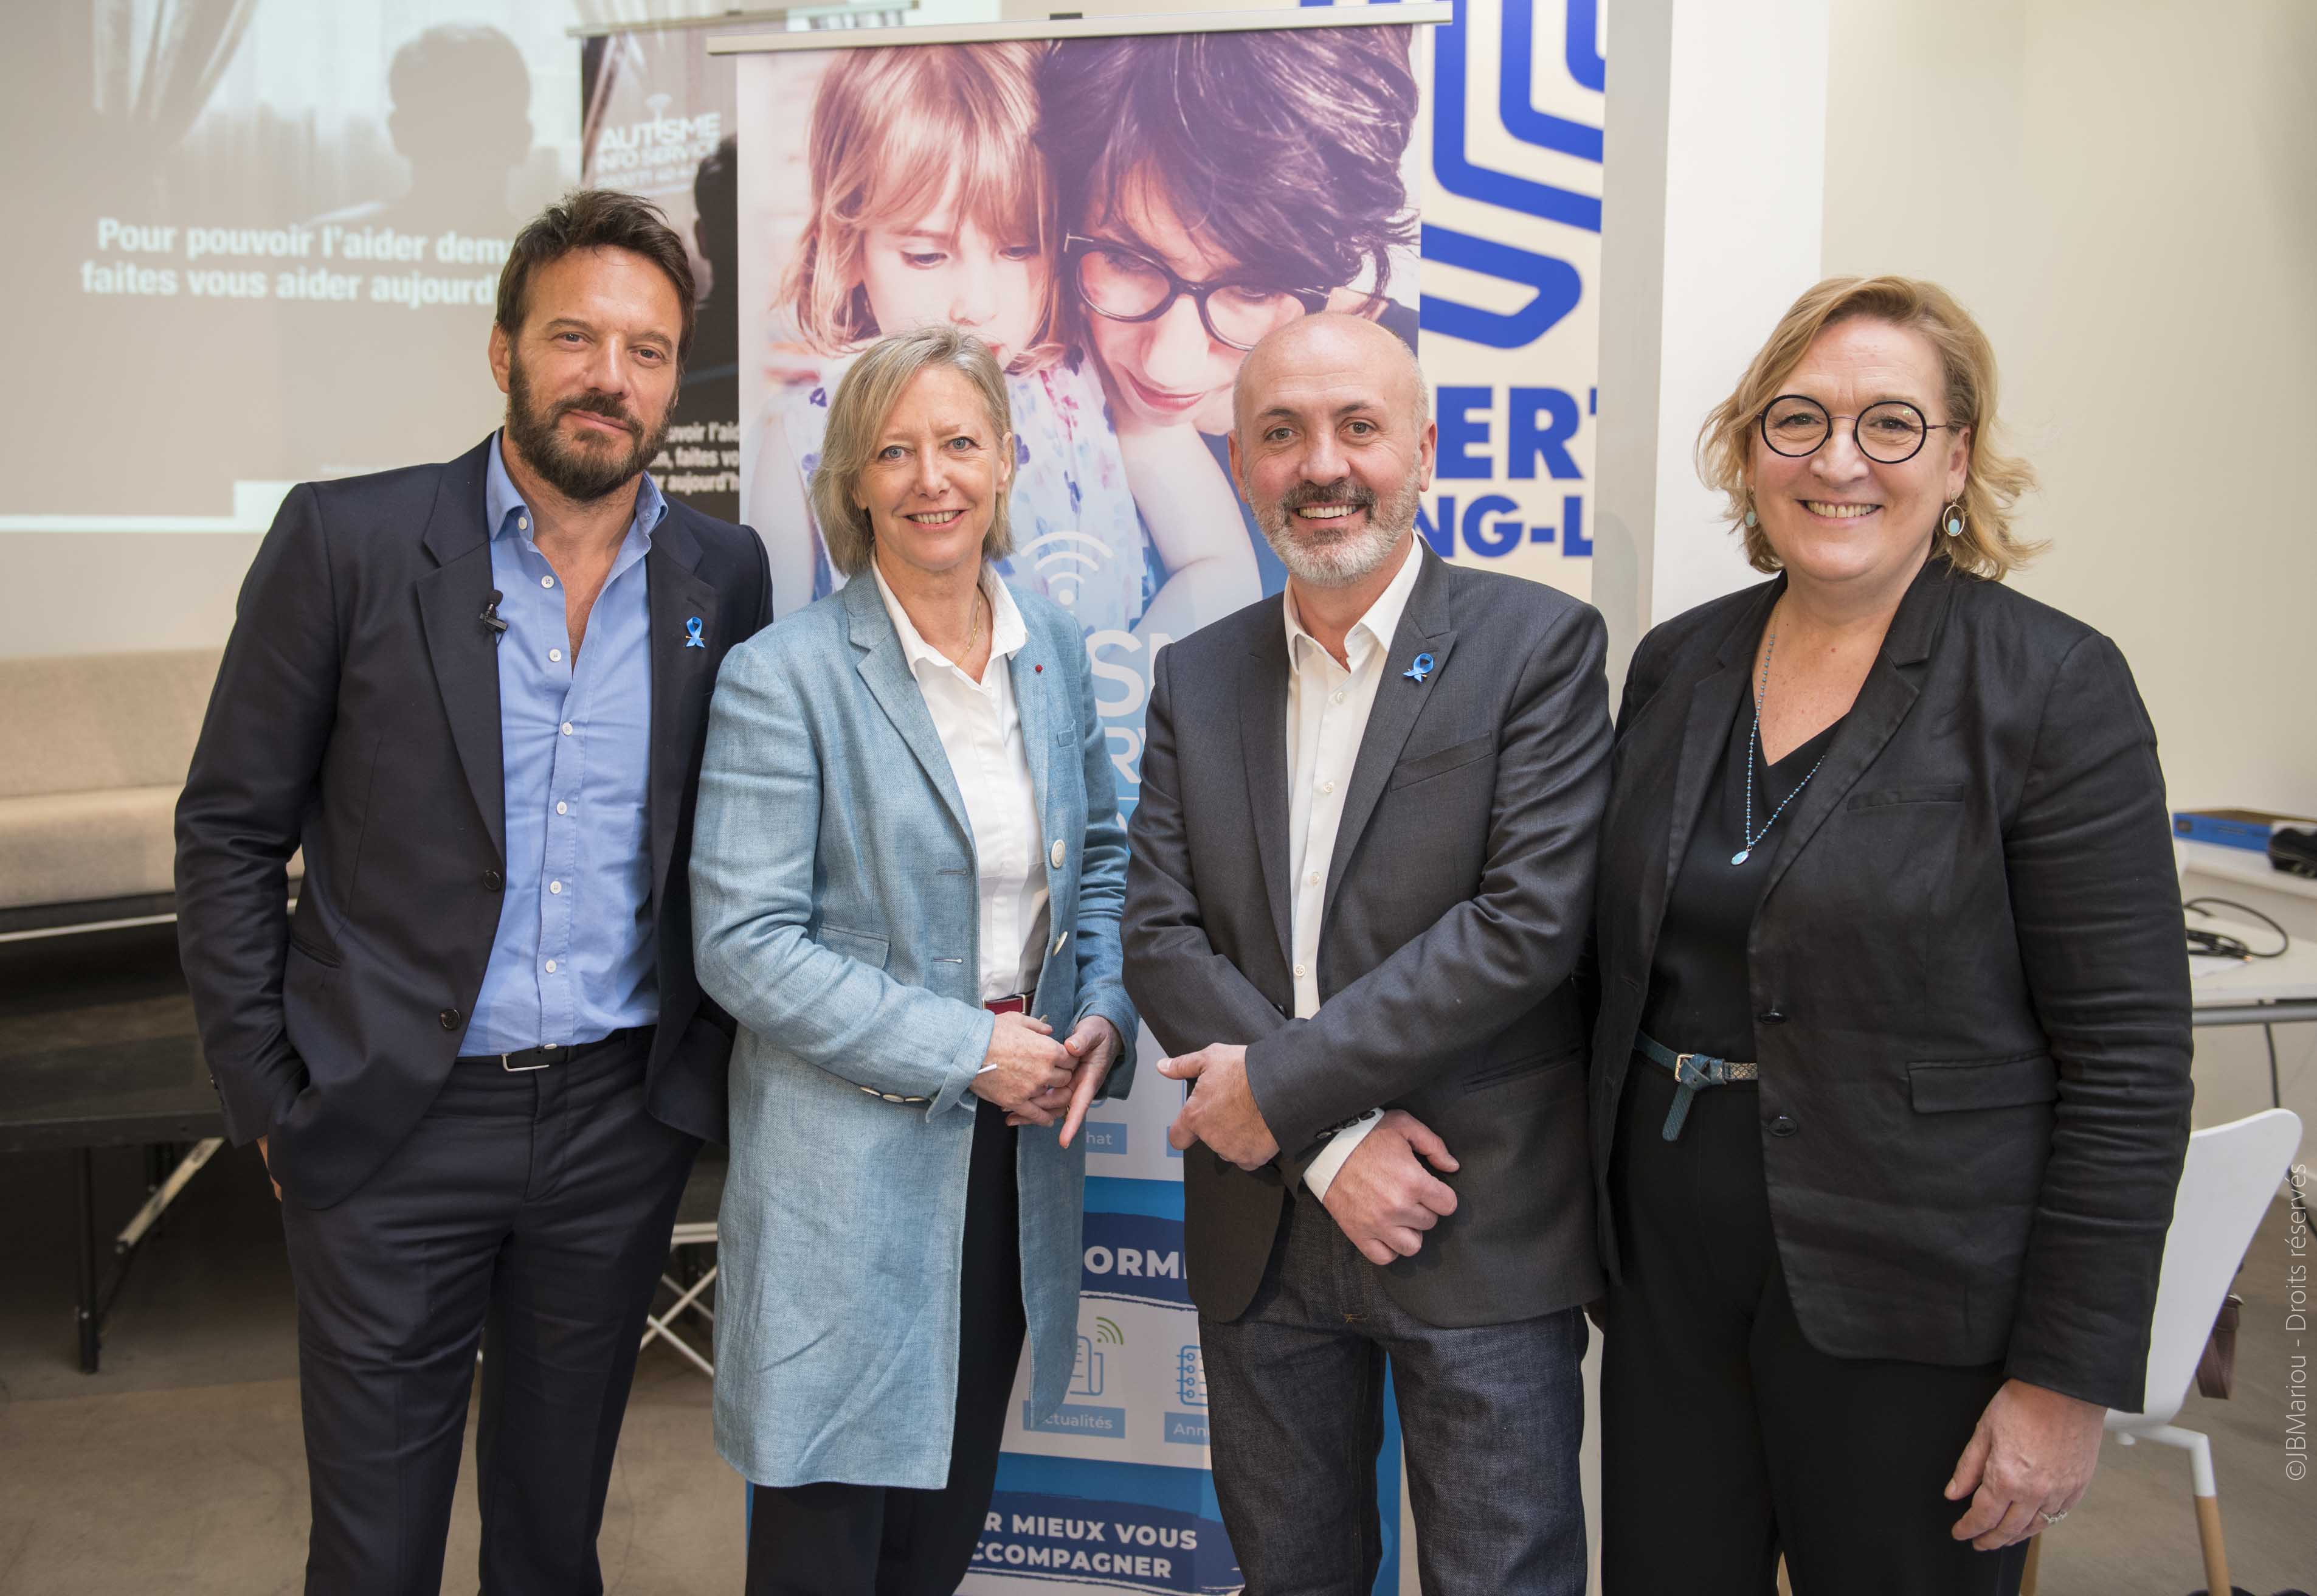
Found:
<path fill-rule="evenodd" d="M 1738 389 L 1705 415 L 1698 429 L 1698 475 L 1705 486 L 1728 496 L 1726 514 L 1745 537 L 1745 556 L 1754 570 L 1779 568 L 1777 551 L 1761 526 L 1745 526 L 1752 507 L 1747 466 L 1754 454 L 1754 424 L 1773 398 L 1784 391 L 1793 368 L 1812 341 L 1837 322 L 1870 317 L 1918 331 L 1939 352 L 1946 373 L 1946 422 L 1969 426 L 1962 477 L 1962 535 L 1935 537 L 1937 554 L 1956 570 L 2002 581 L 2034 558 L 2044 544 L 2025 542 L 2011 530 L 2011 505 L 2034 486 L 2027 461 L 2004 454 L 1995 419 L 1995 345 L 1937 283 L 1918 278 L 1826 278 L 1779 317 L 1770 341 L 1738 378 Z"/>

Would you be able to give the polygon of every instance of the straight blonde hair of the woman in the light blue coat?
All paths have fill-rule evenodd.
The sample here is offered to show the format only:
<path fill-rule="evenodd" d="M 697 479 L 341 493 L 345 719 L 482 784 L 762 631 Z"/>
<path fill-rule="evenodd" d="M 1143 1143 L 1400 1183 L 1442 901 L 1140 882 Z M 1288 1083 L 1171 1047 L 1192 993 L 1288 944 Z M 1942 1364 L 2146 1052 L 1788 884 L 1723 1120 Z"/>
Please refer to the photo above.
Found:
<path fill-rule="evenodd" d="M 973 391 L 980 394 L 989 426 L 996 431 L 989 447 L 1010 447 L 1013 405 L 1006 401 L 1006 373 L 999 371 L 999 359 L 987 343 L 955 327 L 920 327 L 871 343 L 836 382 L 836 394 L 829 396 L 829 426 L 811 484 L 820 542 L 827 544 L 829 563 L 848 579 L 869 570 L 869 551 L 876 547 L 869 512 L 853 503 L 862 470 L 876 456 L 885 417 L 901 403 L 908 385 L 934 366 L 964 373 Z M 989 533 L 982 535 L 985 561 L 1003 561 L 1013 554 L 1013 521 L 1006 514 L 1008 491 L 1003 484 L 994 484 L 994 491 Z"/>

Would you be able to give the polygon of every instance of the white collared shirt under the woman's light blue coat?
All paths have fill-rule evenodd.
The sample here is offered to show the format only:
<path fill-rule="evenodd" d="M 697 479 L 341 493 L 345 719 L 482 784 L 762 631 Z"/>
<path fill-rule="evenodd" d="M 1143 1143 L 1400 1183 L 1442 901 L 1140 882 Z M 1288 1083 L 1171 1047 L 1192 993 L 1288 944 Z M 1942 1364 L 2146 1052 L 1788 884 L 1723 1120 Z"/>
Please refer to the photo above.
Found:
<path fill-rule="evenodd" d="M 869 570 L 876 572 L 876 591 L 885 600 L 885 614 L 892 616 L 892 630 L 901 635 L 901 658 L 908 660 L 908 672 L 924 693 L 924 709 L 934 716 L 941 751 L 950 755 L 957 795 L 966 801 L 982 910 L 982 1003 L 1010 998 L 1038 984 L 1050 913 L 1038 788 L 1029 776 L 1022 713 L 1013 697 L 1013 656 L 1029 642 L 1029 630 L 1013 593 L 985 565 L 989 662 L 975 681 L 924 642 L 876 561 L 869 561 Z"/>

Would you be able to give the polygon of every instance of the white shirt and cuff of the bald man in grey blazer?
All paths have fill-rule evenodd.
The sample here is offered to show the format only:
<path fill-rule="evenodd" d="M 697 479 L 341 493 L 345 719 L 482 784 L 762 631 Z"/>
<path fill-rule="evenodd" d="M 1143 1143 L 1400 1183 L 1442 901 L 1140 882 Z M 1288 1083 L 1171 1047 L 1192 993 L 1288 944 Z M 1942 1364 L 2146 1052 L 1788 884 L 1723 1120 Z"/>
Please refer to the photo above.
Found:
<path fill-rule="evenodd" d="M 1409 607 L 1416 577 L 1423 570 L 1420 537 L 1409 540 L 1390 586 L 1376 595 L 1351 632 L 1344 635 L 1344 658 L 1335 656 L 1295 614 L 1295 586 L 1286 591 L 1288 628 L 1288 862 L 1295 869 L 1295 908 L 1288 917 L 1295 957 L 1295 1017 L 1318 1012 L 1318 924 L 1328 906 L 1328 862 L 1344 825 L 1344 797 L 1351 790 L 1351 767 L 1367 734 L 1367 711 L 1376 707 L 1383 686 L 1383 660 L 1393 651 L 1393 632 Z M 1376 1128 L 1383 1110 L 1367 1110 L 1355 1126 L 1337 1130 L 1304 1170 L 1304 1186 L 1325 1198 L 1335 1172 L 1351 1149 Z"/>

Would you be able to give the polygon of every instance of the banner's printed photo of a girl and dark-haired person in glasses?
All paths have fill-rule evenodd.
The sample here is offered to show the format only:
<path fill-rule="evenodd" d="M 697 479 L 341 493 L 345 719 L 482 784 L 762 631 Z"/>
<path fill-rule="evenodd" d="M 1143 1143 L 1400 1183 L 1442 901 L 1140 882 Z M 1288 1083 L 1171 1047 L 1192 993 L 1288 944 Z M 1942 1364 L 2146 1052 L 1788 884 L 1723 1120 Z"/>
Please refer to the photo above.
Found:
<path fill-rule="evenodd" d="M 781 612 L 843 581 L 804 491 L 836 380 L 966 327 L 1013 396 L 1001 570 L 1084 625 L 1131 806 L 1156 642 L 1286 579 L 1230 484 L 1247 350 L 1321 308 L 1416 343 L 1423 32 L 741 56 L 741 514 Z"/>

